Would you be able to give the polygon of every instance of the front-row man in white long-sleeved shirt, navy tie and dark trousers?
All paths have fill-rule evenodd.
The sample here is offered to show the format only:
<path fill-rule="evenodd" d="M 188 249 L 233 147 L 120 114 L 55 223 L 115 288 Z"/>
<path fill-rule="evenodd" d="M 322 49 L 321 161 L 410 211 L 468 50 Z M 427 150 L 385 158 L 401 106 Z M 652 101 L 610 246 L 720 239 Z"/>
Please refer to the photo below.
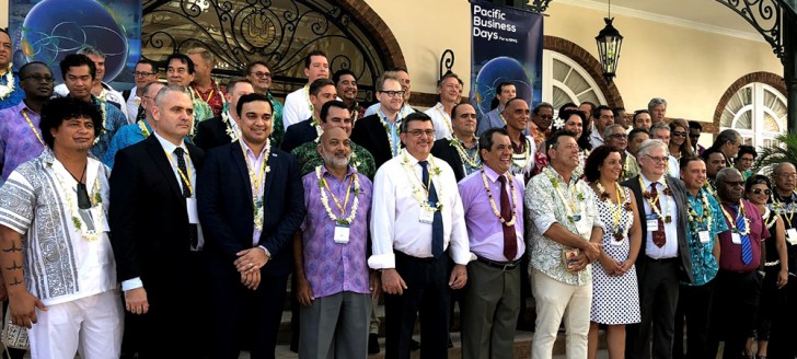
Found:
<path fill-rule="evenodd" d="M 429 116 L 407 116 L 401 134 L 406 149 L 374 178 L 368 265 L 382 270 L 385 351 L 393 358 L 409 358 L 418 314 L 420 356 L 448 358 L 451 289 L 467 280 L 471 253 L 462 200 L 451 166 L 429 154 L 434 136 Z"/>

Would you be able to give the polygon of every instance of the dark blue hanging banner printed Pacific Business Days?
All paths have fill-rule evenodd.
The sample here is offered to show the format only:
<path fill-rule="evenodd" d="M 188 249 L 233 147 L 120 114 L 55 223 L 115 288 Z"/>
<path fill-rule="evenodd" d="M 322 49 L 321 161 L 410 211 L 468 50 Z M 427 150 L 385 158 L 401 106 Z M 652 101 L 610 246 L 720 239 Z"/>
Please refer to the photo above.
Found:
<path fill-rule="evenodd" d="M 542 97 L 542 15 L 488 2 L 471 2 L 471 103 L 490 112 L 495 88 L 511 82 L 529 107 Z"/>

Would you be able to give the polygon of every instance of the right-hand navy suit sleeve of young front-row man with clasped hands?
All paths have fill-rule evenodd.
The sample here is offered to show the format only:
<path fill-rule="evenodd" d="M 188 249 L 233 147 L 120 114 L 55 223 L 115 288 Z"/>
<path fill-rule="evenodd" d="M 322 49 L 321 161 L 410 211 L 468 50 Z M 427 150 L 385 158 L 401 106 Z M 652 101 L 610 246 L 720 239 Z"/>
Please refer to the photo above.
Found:
<path fill-rule="evenodd" d="M 274 231 L 263 231 L 258 243 L 273 255 L 282 252 L 286 246 L 292 245 L 293 233 L 301 225 L 305 213 L 304 187 L 299 172 L 299 162 L 292 155 L 284 158 L 288 159 L 288 175 L 285 183 L 285 204 L 278 204 L 278 206 L 285 206 L 285 211 Z M 285 253 L 290 253 L 290 251 Z"/>

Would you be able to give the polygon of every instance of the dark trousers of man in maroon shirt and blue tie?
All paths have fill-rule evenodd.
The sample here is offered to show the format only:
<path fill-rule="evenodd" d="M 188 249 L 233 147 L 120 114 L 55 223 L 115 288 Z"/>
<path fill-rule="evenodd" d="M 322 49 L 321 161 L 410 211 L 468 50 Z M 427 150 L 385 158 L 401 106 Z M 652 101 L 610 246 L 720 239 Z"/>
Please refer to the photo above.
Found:
<path fill-rule="evenodd" d="M 724 359 L 738 359 L 747 338 L 755 326 L 755 313 L 761 296 L 761 276 L 756 270 L 728 271 L 719 269 L 714 279 L 717 289 L 712 304 L 708 331 L 708 358 L 716 358 L 719 341 L 725 340 Z"/>

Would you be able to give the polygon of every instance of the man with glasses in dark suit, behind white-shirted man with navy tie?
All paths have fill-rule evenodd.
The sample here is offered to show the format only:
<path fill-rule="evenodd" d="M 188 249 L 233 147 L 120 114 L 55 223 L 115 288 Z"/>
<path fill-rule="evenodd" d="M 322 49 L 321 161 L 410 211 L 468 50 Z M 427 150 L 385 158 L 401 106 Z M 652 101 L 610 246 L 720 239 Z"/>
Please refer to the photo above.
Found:
<path fill-rule="evenodd" d="M 390 73 L 383 73 L 377 79 L 377 89 L 379 109 L 355 123 L 351 141 L 371 152 L 379 169 L 401 150 L 399 129 L 402 123 L 404 90 L 399 78 Z"/>

